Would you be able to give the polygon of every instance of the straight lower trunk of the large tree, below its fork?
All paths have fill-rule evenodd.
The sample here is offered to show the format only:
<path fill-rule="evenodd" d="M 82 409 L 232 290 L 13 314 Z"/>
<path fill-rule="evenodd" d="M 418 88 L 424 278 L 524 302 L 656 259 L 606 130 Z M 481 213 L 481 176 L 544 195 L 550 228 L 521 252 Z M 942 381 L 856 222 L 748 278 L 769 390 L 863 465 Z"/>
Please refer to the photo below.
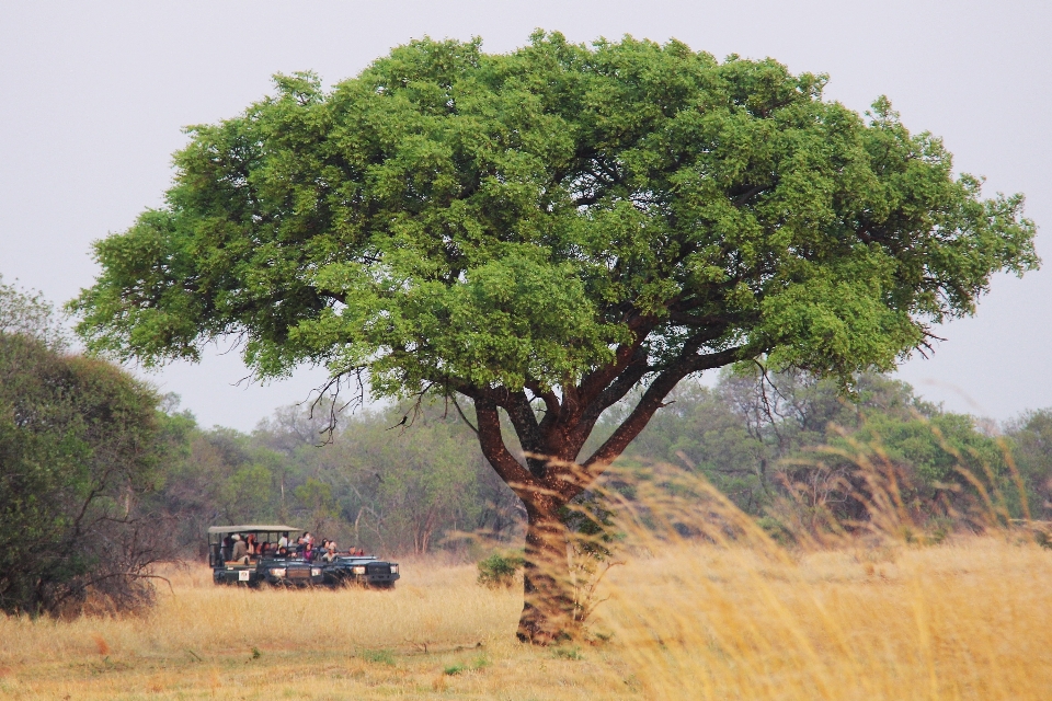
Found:
<path fill-rule="evenodd" d="M 573 585 L 568 531 L 558 512 L 527 506 L 523 614 L 518 640 L 549 645 L 573 637 Z"/>

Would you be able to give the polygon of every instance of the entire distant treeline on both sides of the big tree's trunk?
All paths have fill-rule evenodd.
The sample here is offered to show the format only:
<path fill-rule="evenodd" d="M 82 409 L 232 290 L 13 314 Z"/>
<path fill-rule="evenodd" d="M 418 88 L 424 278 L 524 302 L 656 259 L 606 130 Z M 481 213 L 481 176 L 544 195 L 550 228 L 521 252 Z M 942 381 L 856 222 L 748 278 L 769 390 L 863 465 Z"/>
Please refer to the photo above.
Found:
<path fill-rule="evenodd" d="M 324 420 L 320 416 L 325 414 Z M 398 425 L 403 416 L 407 425 Z M 170 412 L 184 447 L 157 507 L 180 516 L 179 539 L 199 549 L 210 524 L 293 521 L 341 545 L 386 553 L 458 549 L 522 532 L 518 501 L 482 458 L 472 429 L 442 403 L 342 417 L 285 407 L 252 434 L 202 429 Z M 471 420 L 469 414 L 468 421 Z M 595 440 L 617 425 L 609 416 Z M 1052 412 L 994 430 L 944 412 L 910 386 L 859 378 L 845 397 L 802 372 L 724 372 L 714 387 L 685 383 L 620 459 L 697 471 L 739 507 L 771 519 L 865 519 L 865 464 L 894 471 L 905 508 L 933 530 L 974 525 L 982 491 L 1005 517 L 1021 517 L 1016 467 L 1034 518 L 1052 514 Z M 586 448 L 587 449 L 587 448 Z M 977 484 L 981 487 L 976 486 Z M 787 513 L 789 509 L 790 513 Z"/>

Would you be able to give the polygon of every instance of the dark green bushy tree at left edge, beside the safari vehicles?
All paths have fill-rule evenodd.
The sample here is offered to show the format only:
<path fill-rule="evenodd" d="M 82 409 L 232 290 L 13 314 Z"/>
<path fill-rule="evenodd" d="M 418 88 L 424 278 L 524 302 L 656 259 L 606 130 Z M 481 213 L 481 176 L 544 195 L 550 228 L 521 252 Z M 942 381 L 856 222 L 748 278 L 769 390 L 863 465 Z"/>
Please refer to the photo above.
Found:
<path fill-rule="evenodd" d="M 0 610 L 56 613 L 90 596 L 150 599 L 169 554 L 141 508 L 164 456 L 157 395 L 103 360 L 64 353 L 39 296 L 0 285 Z"/>

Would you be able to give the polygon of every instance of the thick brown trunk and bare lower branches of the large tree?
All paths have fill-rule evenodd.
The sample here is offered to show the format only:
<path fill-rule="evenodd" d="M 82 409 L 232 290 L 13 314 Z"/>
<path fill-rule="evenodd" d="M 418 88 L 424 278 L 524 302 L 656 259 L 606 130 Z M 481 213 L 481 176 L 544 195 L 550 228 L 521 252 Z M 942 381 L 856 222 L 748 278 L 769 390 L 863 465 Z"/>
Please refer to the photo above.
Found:
<path fill-rule="evenodd" d="M 567 527 L 559 518 L 560 507 L 588 489 L 621 455 L 654 412 L 664 405 L 665 397 L 679 380 L 691 372 L 722 367 L 739 357 L 740 348 L 699 354 L 705 343 L 722 331 L 698 333 L 684 345 L 679 360 L 655 375 L 636 407 L 610 437 L 592 457 L 578 463 L 579 453 L 603 412 L 655 369 L 648 365 L 648 356 L 640 345 L 651 321 L 639 317 L 637 322 L 634 342 L 619 347 L 610 364 L 588 374 L 576 386 L 562 386 L 561 395 L 536 381 L 528 381 L 515 391 L 467 383 L 453 388 L 474 401 L 478 426 L 471 425 L 456 401 L 454 404 L 478 434 L 482 455 L 526 507 L 526 600 L 518 622 L 518 639 L 524 642 L 548 645 L 572 637 L 576 632 L 569 539 Z M 545 402 L 542 418 L 531 404 L 535 399 Z M 504 443 L 498 407 L 507 413 L 518 436 L 524 452 L 522 459 L 513 456 Z"/>

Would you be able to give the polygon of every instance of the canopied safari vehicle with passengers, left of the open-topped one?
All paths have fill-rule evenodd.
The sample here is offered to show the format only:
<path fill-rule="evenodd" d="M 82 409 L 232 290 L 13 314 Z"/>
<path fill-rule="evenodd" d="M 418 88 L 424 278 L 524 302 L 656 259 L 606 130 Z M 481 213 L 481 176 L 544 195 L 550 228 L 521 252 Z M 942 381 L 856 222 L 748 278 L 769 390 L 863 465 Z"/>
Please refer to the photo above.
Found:
<path fill-rule="evenodd" d="M 287 556 L 275 554 L 250 555 L 248 564 L 235 562 L 233 536 L 247 539 L 254 535 L 260 543 L 267 543 L 271 550 L 277 549 L 278 540 L 289 533 L 300 531 L 291 526 L 261 526 L 256 524 L 245 526 L 213 526 L 208 529 L 208 564 L 211 566 L 211 578 L 216 584 L 235 584 L 258 587 L 261 584 L 276 586 L 310 586 L 324 584 L 325 576 L 322 563 L 310 563 L 296 558 L 295 553 Z M 294 549 L 290 549 L 294 550 Z"/>

